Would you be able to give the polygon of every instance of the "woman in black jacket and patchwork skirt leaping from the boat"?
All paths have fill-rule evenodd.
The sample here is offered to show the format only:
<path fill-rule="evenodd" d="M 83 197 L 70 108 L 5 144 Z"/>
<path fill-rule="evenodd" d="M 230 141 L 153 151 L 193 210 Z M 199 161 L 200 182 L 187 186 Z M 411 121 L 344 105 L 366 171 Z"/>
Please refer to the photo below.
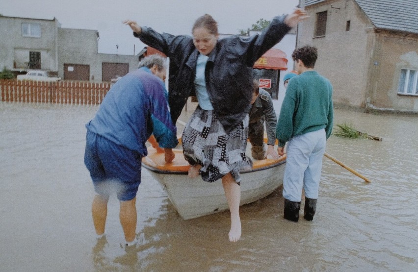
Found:
<path fill-rule="evenodd" d="M 150 27 L 126 20 L 133 35 L 170 58 L 169 105 L 176 123 L 189 96 L 199 105 L 182 135 L 183 154 L 191 165 L 188 175 L 199 174 L 207 182 L 222 179 L 231 213 L 229 240 L 241 237 L 239 171 L 251 168 L 246 157 L 248 113 L 253 94 L 252 67 L 276 45 L 306 12 L 296 9 L 275 17 L 261 34 L 218 39 L 218 27 L 205 14 L 193 25 L 192 35 L 157 33 Z"/>

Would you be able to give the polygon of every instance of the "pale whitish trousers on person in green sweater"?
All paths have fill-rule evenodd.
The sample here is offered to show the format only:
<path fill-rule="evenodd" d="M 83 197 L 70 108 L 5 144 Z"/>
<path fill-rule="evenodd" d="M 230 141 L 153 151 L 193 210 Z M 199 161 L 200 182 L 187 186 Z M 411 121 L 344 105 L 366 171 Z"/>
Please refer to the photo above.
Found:
<path fill-rule="evenodd" d="M 300 202 L 302 188 L 307 198 L 318 198 L 325 146 L 325 129 L 295 136 L 287 142 L 287 160 L 283 178 L 284 198 Z"/>

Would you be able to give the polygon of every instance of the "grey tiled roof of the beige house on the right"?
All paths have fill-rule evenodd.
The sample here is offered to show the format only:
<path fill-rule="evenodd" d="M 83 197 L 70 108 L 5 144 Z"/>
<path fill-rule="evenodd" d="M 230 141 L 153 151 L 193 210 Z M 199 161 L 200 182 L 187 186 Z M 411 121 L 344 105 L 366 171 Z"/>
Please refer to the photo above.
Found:
<path fill-rule="evenodd" d="M 325 0 L 305 0 L 305 6 Z M 418 0 L 355 0 L 380 29 L 418 34 Z"/>

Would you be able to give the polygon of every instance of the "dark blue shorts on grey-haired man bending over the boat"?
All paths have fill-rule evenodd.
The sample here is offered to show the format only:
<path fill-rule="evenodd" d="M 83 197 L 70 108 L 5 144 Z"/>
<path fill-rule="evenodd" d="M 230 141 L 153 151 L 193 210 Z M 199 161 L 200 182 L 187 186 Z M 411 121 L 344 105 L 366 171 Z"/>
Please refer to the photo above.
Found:
<path fill-rule="evenodd" d="M 106 198 L 113 192 L 119 200 L 136 197 L 141 183 L 141 155 L 87 130 L 84 164 L 94 190 Z"/>

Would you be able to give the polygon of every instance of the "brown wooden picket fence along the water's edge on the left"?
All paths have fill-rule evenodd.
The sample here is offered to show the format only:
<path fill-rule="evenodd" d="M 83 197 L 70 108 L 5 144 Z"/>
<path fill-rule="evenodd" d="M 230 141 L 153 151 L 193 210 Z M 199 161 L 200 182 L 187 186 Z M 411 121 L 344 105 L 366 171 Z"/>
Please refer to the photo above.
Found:
<path fill-rule="evenodd" d="M 0 79 L 0 101 L 95 105 L 109 89 L 110 83 Z"/>

